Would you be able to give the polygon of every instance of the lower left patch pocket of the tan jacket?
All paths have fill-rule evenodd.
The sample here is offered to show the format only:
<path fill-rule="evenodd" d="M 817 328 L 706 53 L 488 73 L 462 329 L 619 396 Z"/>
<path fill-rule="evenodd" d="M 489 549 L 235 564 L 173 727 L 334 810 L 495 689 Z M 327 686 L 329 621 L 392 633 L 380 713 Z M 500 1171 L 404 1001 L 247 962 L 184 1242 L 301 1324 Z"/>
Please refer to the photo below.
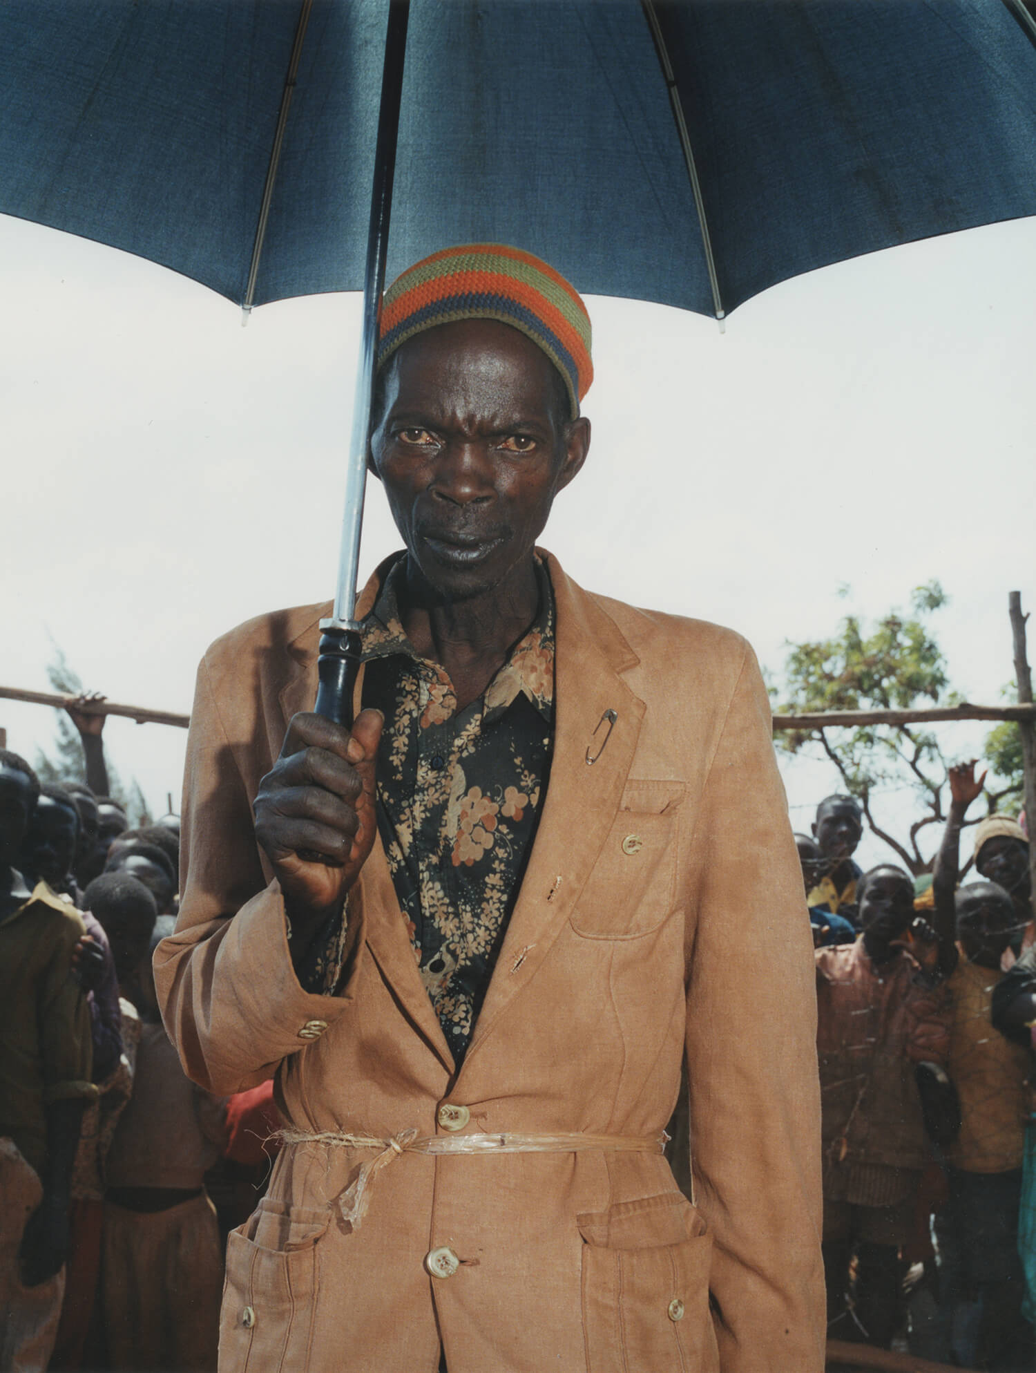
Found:
<path fill-rule="evenodd" d="M 220 1313 L 221 1373 L 291 1373 L 309 1366 L 317 1241 L 329 1211 L 262 1200 L 226 1241 Z"/>

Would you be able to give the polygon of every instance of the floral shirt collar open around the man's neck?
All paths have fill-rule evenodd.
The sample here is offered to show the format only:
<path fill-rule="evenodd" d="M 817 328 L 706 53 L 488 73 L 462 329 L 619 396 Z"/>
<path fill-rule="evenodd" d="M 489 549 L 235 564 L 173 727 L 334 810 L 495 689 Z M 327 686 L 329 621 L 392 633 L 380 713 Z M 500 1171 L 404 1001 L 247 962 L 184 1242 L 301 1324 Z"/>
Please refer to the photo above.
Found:
<path fill-rule="evenodd" d="M 542 562 L 535 557 L 539 605 L 528 630 L 515 644 L 508 660 L 486 688 L 483 696 L 483 722 L 491 724 L 513 704 L 517 696 L 524 696 L 539 714 L 550 721 L 554 714 L 554 593 L 550 575 Z M 406 553 L 401 553 L 388 568 L 370 611 L 361 622 L 361 660 L 388 658 L 401 654 L 409 658 L 429 681 L 440 682 L 453 695 L 449 674 L 439 663 L 421 658 L 414 649 L 399 618 L 399 590 L 406 577 Z"/>

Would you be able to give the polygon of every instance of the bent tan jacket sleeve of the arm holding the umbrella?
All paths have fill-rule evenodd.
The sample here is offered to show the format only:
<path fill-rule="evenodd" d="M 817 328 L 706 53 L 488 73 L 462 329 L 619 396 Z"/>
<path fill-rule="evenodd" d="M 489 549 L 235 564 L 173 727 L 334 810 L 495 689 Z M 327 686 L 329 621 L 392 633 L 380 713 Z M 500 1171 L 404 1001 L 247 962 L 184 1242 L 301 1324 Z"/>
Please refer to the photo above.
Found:
<path fill-rule="evenodd" d="M 217 699 L 215 676 L 236 682 L 221 689 L 228 699 Z M 184 770 L 180 916 L 155 950 L 169 1037 L 188 1078 L 215 1096 L 272 1078 L 342 1015 L 364 946 L 358 932 L 357 958 L 338 995 L 299 984 L 284 901 L 262 870 L 252 796 L 239 766 L 261 729 L 252 686 L 247 670 L 214 674 L 209 658 L 199 667 Z M 355 919 L 362 921 L 360 902 Z"/>

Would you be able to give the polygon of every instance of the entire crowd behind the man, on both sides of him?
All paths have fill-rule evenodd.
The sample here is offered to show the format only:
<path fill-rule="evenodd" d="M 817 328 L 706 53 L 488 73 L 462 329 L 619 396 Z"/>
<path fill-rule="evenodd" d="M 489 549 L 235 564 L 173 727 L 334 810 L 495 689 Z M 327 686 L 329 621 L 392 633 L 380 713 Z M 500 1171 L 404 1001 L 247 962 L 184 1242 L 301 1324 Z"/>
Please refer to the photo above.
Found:
<path fill-rule="evenodd" d="M 95 781 L 102 759 L 92 744 Z M 1018 821 L 987 817 L 962 881 L 974 763 L 951 769 L 950 789 L 928 890 L 899 866 L 860 870 L 851 796 L 827 796 L 796 835 L 816 961 L 829 1333 L 1028 1373 L 1029 846 Z M 151 973 L 177 886 L 174 816 L 133 829 L 118 802 L 41 785 L 0 750 L 3 1369 L 215 1369 L 225 1237 L 262 1193 L 277 1115 L 269 1083 L 215 1100 L 180 1068 Z M 686 1168 L 676 1177 L 689 1185 Z"/>

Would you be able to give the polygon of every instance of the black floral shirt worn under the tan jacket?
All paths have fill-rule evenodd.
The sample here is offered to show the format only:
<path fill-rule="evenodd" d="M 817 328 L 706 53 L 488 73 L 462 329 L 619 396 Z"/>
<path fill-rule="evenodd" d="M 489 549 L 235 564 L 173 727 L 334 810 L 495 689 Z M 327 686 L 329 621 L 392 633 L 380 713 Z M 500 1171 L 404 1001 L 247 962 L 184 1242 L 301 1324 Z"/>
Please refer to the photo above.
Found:
<path fill-rule="evenodd" d="M 554 719 L 554 601 L 537 562 L 539 610 L 464 710 L 446 670 L 403 633 L 392 566 L 364 619 L 364 706 L 386 717 L 377 825 L 414 961 L 460 1065 L 521 884 L 546 794 Z M 344 924 L 344 923 L 343 923 Z M 318 980 L 342 967 L 325 945 Z"/>

